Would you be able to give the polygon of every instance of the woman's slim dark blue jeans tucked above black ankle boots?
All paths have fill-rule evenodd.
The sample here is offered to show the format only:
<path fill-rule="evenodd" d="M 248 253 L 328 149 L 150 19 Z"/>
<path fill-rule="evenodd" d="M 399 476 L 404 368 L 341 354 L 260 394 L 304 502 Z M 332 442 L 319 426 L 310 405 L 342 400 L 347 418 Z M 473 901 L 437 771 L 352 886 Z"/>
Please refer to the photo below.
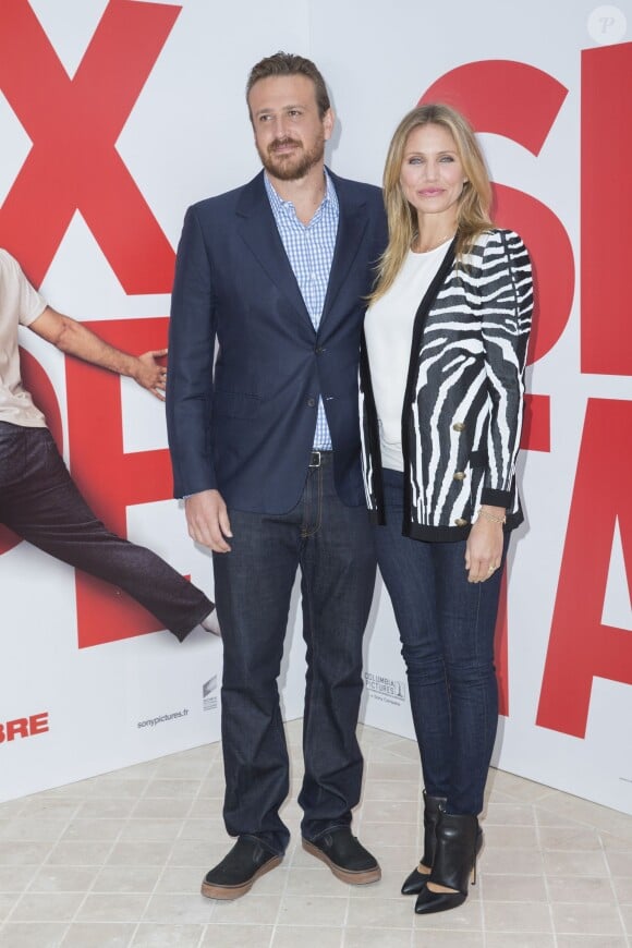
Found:
<path fill-rule="evenodd" d="M 498 726 L 494 631 L 505 566 L 469 583 L 465 542 L 402 536 L 403 474 L 384 471 L 387 523 L 374 527 L 406 664 L 426 793 L 478 814 Z M 507 540 L 506 548 L 507 551 Z"/>

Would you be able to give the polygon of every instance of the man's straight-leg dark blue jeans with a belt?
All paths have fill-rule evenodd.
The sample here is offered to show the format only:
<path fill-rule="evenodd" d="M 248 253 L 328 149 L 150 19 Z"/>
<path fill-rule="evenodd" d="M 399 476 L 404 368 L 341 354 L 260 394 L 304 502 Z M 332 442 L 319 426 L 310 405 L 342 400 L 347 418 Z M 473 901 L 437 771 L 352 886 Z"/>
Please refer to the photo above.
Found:
<path fill-rule="evenodd" d="M 214 554 L 223 640 L 226 826 L 231 836 L 258 836 L 277 853 L 290 838 L 279 816 L 289 765 L 277 679 L 299 567 L 307 659 L 303 836 L 349 825 L 361 792 L 355 728 L 375 552 L 366 509 L 340 501 L 332 455 L 321 457 L 289 513 L 230 510 L 231 552 Z"/>

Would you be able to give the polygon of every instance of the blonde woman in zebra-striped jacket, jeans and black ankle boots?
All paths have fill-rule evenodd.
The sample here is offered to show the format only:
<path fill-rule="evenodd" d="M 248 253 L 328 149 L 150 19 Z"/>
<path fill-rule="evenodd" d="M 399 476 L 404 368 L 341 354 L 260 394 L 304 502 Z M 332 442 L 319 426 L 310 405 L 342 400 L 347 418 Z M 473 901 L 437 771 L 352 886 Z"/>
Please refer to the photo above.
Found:
<path fill-rule="evenodd" d="M 461 904 L 498 724 L 494 631 L 511 530 L 533 293 L 495 229 L 474 133 L 413 109 L 385 174 L 389 244 L 361 360 L 365 489 L 406 663 L 424 776 L 424 853 L 402 891 Z"/>

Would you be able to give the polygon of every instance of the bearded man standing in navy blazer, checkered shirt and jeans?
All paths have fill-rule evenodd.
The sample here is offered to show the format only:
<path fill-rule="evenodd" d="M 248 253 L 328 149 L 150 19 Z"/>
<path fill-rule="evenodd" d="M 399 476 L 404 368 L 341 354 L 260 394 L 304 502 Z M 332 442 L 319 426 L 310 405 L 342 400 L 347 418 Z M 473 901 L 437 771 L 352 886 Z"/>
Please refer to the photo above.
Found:
<path fill-rule="evenodd" d="M 377 187 L 325 168 L 333 113 L 314 63 L 268 57 L 252 70 L 246 97 L 264 170 L 186 214 L 167 390 L 174 491 L 186 498 L 190 535 L 214 554 L 224 646 L 223 815 L 238 840 L 204 879 L 203 895 L 216 899 L 247 892 L 288 846 L 277 678 L 299 568 L 303 847 L 344 882 L 380 877 L 351 834 L 351 811 L 375 582 L 357 364 L 386 218 Z"/>

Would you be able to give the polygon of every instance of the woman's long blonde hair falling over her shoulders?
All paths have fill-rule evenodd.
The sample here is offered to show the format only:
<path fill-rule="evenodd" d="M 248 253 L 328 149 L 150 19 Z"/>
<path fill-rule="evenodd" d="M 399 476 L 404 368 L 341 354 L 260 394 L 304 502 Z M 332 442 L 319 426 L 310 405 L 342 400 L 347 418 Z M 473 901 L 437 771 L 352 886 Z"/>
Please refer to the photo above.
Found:
<path fill-rule="evenodd" d="M 491 224 L 491 185 L 485 159 L 473 129 L 466 119 L 450 106 L 437 102 L 412 109 L 399 123 L 392 136 L 384 169 L 384 202 L 388 218 L 388 246 L 379 259 L 374 303 L 392 285 L 408 252 L 417 236 L 415 208 L 404 197 L 400 183 L 406 143 L 411 132 L 421 125 L 441 125 L 454 139 L 457 154 L 465 178 L 457 211 L 457 257 L 467 253 L 476 238 Z"/>

